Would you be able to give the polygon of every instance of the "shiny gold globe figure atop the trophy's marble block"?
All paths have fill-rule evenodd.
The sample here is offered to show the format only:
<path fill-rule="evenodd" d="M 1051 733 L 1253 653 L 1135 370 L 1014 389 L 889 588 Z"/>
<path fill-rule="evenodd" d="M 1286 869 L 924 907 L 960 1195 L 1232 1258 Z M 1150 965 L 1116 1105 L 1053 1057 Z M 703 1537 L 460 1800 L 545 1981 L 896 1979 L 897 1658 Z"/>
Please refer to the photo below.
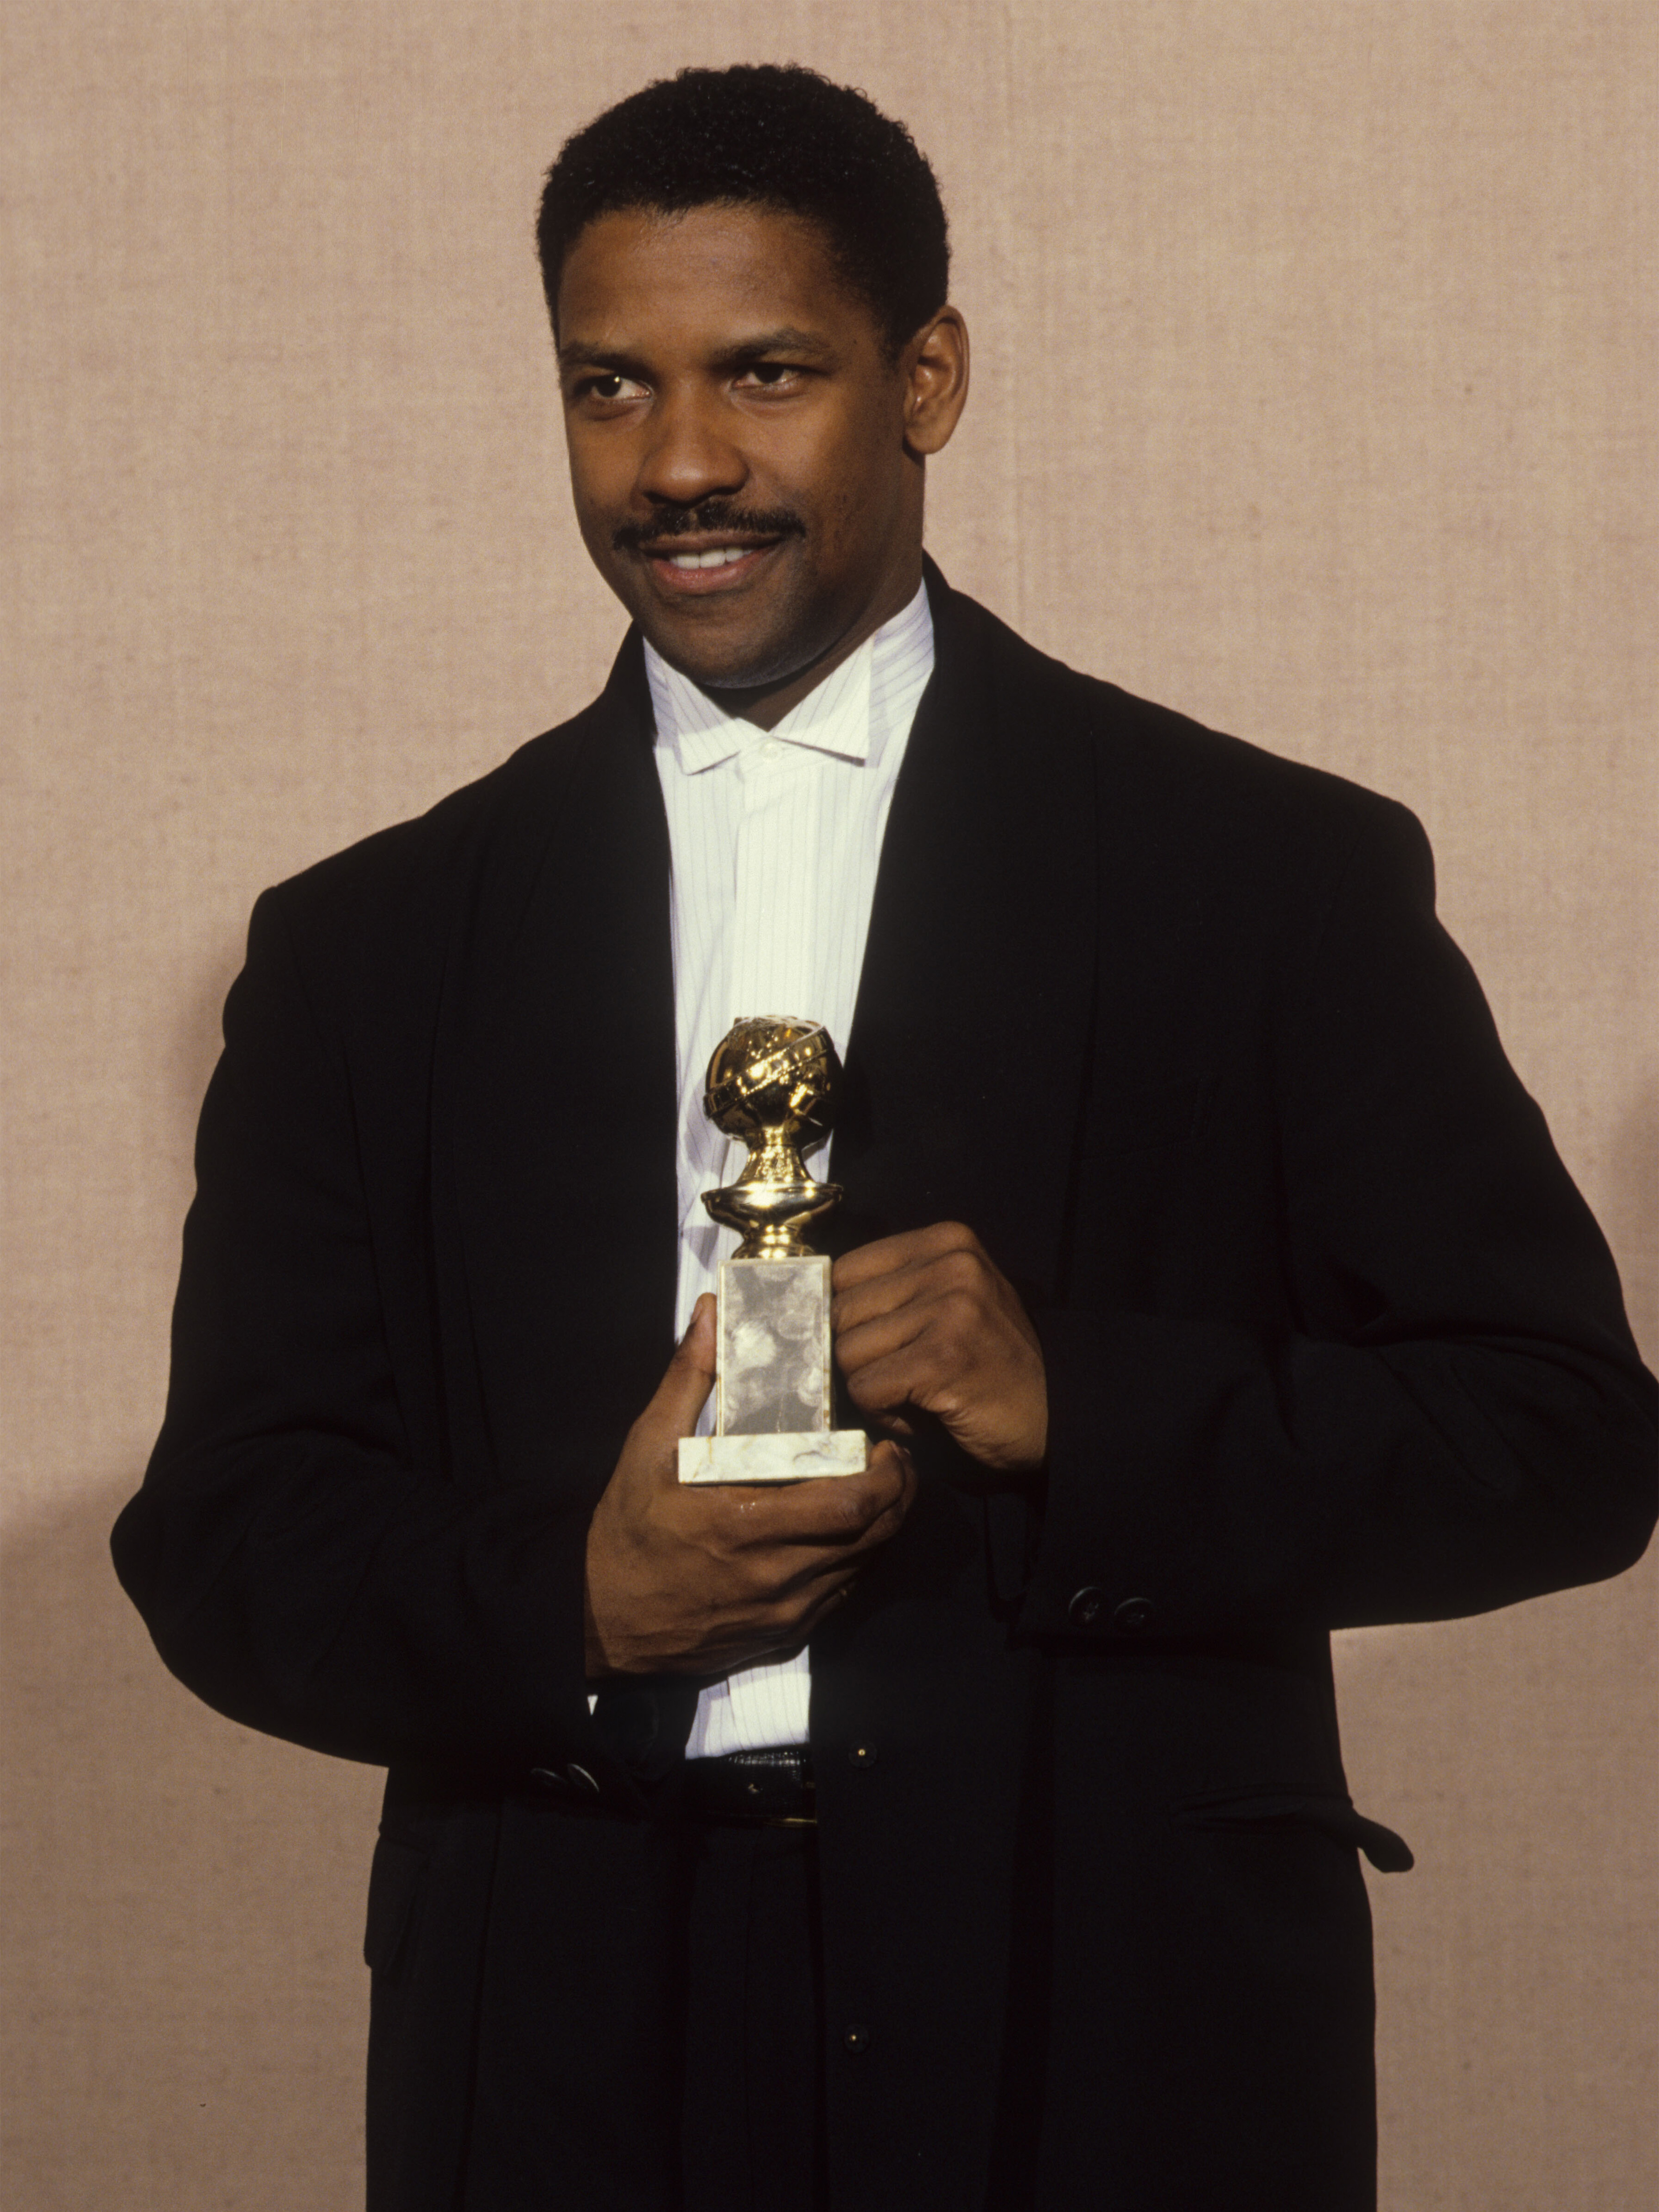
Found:
<path fill-rule="evenodd" d="M 703 1206 L 743 1243 L 737 1259 L 810 1259 L 801 1230 L 841 1199 L 838 1183 L 816 1183 L 801 1166 L 801 1146 L 830 1133 L 841 1060 L 823 1022 L 761 1015 L 734 1022 L 714 1046 L 703 1082 L 703 1113 L 750 1148 L 726 1190 L 706 1190 Z"/>

